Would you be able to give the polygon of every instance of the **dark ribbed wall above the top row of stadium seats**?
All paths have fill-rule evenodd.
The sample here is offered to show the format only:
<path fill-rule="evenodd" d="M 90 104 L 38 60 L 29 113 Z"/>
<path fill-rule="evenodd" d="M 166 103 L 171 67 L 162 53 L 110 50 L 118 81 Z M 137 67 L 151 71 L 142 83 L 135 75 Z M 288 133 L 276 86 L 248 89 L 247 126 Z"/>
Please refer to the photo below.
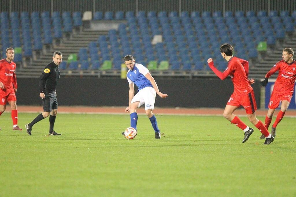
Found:
<path fill-rule="evenodd" d="M 1 0 L 0 12 L 237 11 L 296 9 L 296 0 Z"/>

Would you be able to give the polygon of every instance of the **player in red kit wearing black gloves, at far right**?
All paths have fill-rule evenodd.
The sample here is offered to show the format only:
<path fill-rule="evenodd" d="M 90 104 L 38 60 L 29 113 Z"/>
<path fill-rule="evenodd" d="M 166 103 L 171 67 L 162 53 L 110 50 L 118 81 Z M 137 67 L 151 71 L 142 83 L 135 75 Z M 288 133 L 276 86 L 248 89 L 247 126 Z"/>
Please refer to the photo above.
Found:
<path fill-rule="evenodd" d="M 265 117 L 265 127 L 268 129 L 274 111 L 279 107 L 281 102 L 281 110 L 276 116 L 274 124 L 271 126 L 271 135 L 276 136 L 276 126 L 283 119 L 287 108 L 292 99 L 294 92 L 294 83 L 296 79 L 296 61 L 293 60 L 294 51 L 292 48 L 284 48 L 283 60 L 279 61 L 272 67 L 272 69 L 265 75 L 265 79 L 261 84 L 265 87 L 268 83 L 268 78 L 273 75 L 276 71 L 279 71 L 279 75 L 274 83 L 274 89 L 272 91 L 269 104 L 268 112 Z M 262 136 L 260 137 L 263 138 Z"/>

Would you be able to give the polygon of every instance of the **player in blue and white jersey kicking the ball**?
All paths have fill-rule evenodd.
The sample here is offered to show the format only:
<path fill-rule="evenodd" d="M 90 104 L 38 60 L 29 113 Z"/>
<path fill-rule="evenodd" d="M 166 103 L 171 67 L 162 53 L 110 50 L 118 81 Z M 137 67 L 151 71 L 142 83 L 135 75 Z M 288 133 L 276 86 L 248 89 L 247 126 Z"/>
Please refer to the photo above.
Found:
<path fill-rule="evenodd" d="M 149 70 L 142 64 L 136 64 L 133 56 L 125 56 L 124 63 L 129 69 L 126 74 L 130 87 L 128 92 L 129 103 L 126 108 L 126 112 L 130 112 L 131 127 L 137 129 L 138 115 L 136 110 L 141 105 L 145 104 L 145 112 L 155 131 L 155 139 L 160 139 L 160 130 L 157 126 L 156 117 L 153 115 L 152 110 L 154 109 L 156 93 L 161 98 L 166 98 L 168 95 L 159 91 L 154 78 L 149 73 Z M 138 93 L 136 95 L 134 95 L 134 84 L 138 87 Z M 124 133 L 122 134 L 124 135 Z"/>

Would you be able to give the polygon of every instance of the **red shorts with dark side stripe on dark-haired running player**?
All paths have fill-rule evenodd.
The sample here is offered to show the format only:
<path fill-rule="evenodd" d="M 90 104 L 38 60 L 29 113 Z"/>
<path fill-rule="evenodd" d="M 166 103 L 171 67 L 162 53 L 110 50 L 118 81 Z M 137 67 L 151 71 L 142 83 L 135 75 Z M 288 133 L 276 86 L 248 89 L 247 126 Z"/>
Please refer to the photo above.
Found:
<path fill-rule="evenodd" d="M 245 108 L 247 114 L 253 114 L 257 110 L 257 104 L 253 90 L 249 94 L 242 96 L 232 93 L 227 105 L 233 105 L 237 107 L 242 105 Z"/>

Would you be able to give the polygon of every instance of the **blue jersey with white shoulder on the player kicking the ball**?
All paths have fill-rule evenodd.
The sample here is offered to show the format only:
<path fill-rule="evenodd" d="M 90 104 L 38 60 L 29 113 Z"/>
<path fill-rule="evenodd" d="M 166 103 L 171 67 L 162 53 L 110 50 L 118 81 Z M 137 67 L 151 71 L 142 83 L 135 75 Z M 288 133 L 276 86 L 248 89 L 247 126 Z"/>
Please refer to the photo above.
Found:
<path fill-rule="evenodd" d="M 128 84 L 134 83 L 138 87 L 138 91 L 144 87 L 153 87 L 151 82 L 145 77 L 149 70 L 142 64 L 135 64 L 133 70 L 128 70 L 126 78 Z"/>

